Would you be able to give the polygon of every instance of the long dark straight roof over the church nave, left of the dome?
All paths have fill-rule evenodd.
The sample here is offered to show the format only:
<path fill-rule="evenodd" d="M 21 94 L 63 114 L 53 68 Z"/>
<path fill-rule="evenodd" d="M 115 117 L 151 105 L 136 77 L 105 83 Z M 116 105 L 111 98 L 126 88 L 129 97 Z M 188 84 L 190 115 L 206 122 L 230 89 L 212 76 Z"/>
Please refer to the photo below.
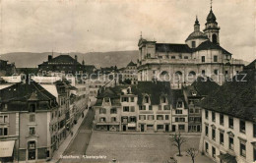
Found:
<path fill-rule="evenodd" d="M 157 52 L 177 52 L 177 53 L 191 53 L 191 49 L 187 44 L 175 43 L 156 43 Z"/>

